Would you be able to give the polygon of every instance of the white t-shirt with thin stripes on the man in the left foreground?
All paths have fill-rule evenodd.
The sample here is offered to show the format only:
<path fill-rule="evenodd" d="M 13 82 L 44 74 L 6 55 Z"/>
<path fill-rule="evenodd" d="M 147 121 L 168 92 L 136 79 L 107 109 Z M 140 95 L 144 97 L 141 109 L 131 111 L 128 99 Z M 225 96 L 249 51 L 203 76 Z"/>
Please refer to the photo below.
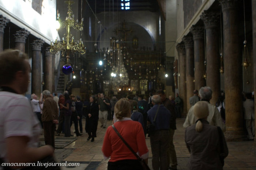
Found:
<path fill-rule="evenodd" d="M 29 100 L 20 94 L 0 92 L 0 157 L 5 159 L 6 138 L 28 136 L 29 147 L 38 147 L 41 127 Z"/>

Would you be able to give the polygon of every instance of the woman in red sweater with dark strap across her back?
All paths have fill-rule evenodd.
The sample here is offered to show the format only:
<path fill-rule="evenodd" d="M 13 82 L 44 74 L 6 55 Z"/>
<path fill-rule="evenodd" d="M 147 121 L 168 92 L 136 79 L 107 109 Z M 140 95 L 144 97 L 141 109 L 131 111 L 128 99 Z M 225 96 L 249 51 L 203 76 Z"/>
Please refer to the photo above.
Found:
<path fill-rule="evenodd" d="M 114 114 L 117 122 L 114 123 L 117 131 L 144 161 L 148 161 L 148 149 L 142 125 L 133 121 L 131 116 L 131 105 L 127 100 L 117 101 Z M 103 141 L 102 152 L 105 159 L 110 158 L 108 170 L 141 170 L 139 160 L 124 144 L 116 134 L 112 126 L 109 126 Z"/>

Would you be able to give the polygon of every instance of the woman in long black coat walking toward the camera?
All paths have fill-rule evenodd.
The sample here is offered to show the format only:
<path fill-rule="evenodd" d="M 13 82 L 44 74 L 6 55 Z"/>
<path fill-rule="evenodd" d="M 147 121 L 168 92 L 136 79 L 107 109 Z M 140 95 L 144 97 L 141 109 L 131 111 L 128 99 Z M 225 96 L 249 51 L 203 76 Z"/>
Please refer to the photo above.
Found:
<path fill-rule="evenodd" d="M 85 123 L 85 131 L 89 135 L 87 140 L 91 139 L 91 142 L 94 142 L 94 138 L 97 137 L 96 131 L 98 126 L 98 119 L 99 119 L 99 106 L 96 103 L 95 96 L 91 96 L 90 103 L 87 106 L 86 123 Z"/>

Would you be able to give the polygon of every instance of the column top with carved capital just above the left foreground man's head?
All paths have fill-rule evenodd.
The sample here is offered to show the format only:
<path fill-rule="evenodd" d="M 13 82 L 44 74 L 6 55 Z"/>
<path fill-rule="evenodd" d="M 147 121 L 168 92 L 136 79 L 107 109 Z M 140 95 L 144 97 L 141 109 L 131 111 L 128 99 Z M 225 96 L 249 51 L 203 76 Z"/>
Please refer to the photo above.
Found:
<path fill-rule="evenodd" d="M 29 31 L 25 30 L 24 28 L 17 31 L 15 34 L 14 34 L 14 37 L 15 37 L 15 49 L 16 50 L 20 50 L 22 51 L 23 53 L 25 53 L 25 43 L 26 43 L 26 38 L 27 36 L 30 34 Z"/>

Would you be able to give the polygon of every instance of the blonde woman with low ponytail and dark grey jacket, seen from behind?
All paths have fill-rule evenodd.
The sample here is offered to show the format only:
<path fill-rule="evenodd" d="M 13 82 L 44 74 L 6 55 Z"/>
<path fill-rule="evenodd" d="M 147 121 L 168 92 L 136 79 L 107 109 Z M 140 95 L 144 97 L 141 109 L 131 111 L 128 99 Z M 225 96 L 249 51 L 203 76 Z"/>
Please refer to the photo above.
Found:
<path fill-rule="evenodd" d="M 193 108 L 196 124 L 185 130 L 185 142 L 190 153 L 189 170 L 223 170 L 220 154 L 226 158 L 229 151 L 222 131 L 207 121 L 209 115 L 206 101 L 198 101 Z M 220 134 L 219 134 L 220 133 Z M 222 136 L 222 140 L 219 136 Z M 221 151 L 221 143 L 223 151 Z"/>

